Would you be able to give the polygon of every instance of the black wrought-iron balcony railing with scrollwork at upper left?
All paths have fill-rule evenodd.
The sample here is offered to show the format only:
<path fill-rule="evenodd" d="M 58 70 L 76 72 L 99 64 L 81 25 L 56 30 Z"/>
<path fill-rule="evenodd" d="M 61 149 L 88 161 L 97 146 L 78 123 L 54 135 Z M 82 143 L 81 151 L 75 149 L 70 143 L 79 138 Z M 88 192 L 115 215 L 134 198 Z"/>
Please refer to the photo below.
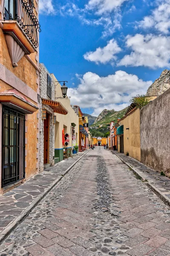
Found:
<path fill-rule="evenodd" d="M 38 47 L 38 32 L 41 32 L 40 23 L 35 16 L 33 0 L 4 0 L 3 20 L 17 20 L 29 40 Z M 12 4 L 11 4 L 12 3 Z M 12 10 L 10 7 L 12 6 Z"/>

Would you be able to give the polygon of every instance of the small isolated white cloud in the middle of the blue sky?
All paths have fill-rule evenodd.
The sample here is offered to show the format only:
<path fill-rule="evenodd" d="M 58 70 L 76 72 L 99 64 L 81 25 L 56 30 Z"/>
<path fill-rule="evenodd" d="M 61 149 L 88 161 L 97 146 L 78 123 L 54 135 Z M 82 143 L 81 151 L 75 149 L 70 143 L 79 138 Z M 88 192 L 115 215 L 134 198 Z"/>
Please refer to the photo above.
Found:
<path fill-rule="evenodd" d="M 94 61 L 96 64 L 106 64 L 109 61 L 115 61 L 117 59 L 115 54 L 120 51 L 121 48 L 118 46 L 117 42 L 112 39 L 107 42 L 107 46 L 104 48 L 99 47 L 95 52 L 86 52 L 86 54 L 84 54 L 84 58 L 87 61 Z"/>

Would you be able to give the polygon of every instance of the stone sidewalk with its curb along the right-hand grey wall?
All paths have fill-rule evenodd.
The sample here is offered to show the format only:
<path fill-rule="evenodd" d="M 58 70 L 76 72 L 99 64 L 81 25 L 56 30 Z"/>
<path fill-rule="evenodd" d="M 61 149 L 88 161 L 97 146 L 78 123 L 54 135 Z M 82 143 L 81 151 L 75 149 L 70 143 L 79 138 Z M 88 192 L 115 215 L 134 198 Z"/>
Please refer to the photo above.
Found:
<path fill-rule="evenodd" d="M 132 157 L 113 150 L 112 153 L 117 155 L 125 164 L 127 164 L 138 178 L 143 180 L 165 204 L 170 206 L 170 178 L 161 176 L 159 172 L 145 166 Z"/>

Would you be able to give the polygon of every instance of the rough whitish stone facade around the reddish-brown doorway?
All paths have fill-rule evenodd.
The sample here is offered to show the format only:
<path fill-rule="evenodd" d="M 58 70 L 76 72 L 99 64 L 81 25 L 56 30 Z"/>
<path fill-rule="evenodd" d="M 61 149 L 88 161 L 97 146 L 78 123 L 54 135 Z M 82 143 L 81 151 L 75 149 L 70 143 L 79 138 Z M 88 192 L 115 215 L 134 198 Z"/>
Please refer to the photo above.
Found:
<path fill-rule="evenodd" d="M 55 100 L 55 81 L 52 78 L 51 74 L 48 72 L 46 67 L 43 64 L 40 64 L 40 139 L 39 139 L 39 172 L 43 171 L 44 165 L 44 120 L 42 119 L 42 109 L 46 109 L 46 112 L 49 113 L 49 164 L 54 165 L 54 155 L 55 155 L 55 125 L 53 124 L 53 109 L 42 104 L 42 99 L 51 99 Z M 47 95 L 47 74 L 52 79 L 52 97 L 50 98 Z"/>

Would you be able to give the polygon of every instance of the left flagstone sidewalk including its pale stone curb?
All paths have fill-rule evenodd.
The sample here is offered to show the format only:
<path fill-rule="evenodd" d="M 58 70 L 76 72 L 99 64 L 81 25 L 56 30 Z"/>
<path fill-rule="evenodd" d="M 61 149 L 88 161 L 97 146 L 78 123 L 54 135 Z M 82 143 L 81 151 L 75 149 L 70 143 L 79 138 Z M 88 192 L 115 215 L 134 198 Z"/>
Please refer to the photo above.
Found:
<path fill-rule="evenodd" d="M 31 212 L 85 153 L 57 163 L 0 196 L 0 242 Z"/>

